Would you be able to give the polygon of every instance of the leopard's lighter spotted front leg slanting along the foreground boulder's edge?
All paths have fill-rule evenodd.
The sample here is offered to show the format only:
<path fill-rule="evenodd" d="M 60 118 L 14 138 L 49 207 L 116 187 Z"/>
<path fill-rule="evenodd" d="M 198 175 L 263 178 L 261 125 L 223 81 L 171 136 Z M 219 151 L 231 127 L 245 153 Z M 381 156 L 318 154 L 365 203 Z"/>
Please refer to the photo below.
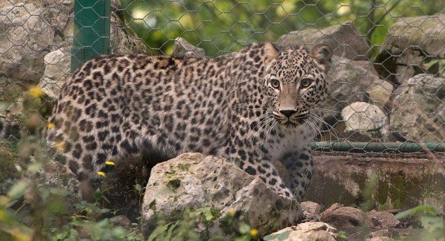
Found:
<path fill-rule="evenodd" d="M 235 163 L 252 176 L 258 176 L 268 188 L 282 197 L 293 199 L 293 194 L 289 188 L 286 187 L 282 178 L 279 176 L 274 165 L 268 160 L 252 159 L 243 160 L 240 157 L 234 158 Z"/>

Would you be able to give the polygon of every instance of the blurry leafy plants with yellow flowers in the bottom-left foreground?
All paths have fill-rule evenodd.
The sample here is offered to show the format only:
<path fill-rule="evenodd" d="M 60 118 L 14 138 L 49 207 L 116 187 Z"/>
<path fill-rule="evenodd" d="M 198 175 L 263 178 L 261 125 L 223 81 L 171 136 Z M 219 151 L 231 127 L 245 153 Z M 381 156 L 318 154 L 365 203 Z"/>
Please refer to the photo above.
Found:
<path fill-rule="evenodd" d="M 41 126 L 40 119 L 35 122 L 29 126 Z M 7 143 L 17 146 L 8 150 L 17 157 L 11 165 L 21 171 L 10 177 L 15 180 L 8 192 L 0 193 L 0 240 L 143 240 L 138 224 L 124 228 L 106 218 L 116 210 L 102 206 L 109 202 L 104 190 L 95 191 L 95 203 L 71 203 L 74 193 L 44 179 L 44 167 L 54 163 L 49 163 L 51 156 L 39 135 L 25 130 L 16 144 Z"/>

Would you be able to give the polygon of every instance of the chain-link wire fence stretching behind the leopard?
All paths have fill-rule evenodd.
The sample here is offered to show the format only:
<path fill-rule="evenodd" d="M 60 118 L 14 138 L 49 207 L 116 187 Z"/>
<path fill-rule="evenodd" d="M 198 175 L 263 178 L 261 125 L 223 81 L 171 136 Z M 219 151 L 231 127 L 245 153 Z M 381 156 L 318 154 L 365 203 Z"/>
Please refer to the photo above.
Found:
<path fill-rule="evenodd" d="M 252 42 L 334 49 L 313 148 L 445 151 L 445 2 L 7 0 L 0 113 L 45 119 L 100 53 L 219 56 Z"/>

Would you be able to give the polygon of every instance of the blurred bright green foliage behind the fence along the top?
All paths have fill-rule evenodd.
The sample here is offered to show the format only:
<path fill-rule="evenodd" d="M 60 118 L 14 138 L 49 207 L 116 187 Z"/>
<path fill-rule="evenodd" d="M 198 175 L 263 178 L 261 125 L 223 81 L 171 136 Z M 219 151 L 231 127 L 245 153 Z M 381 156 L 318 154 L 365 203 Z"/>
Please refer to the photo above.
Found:
<path fill-rule="evenodd" d="M 153 53 L 170 54 L 173 40 L 182 37 L 208 56 L 347 21 L 378 46 L 398 17 L 445 11 L 445 2 L 437 0 L 120 1 L 127 22 Z"/>

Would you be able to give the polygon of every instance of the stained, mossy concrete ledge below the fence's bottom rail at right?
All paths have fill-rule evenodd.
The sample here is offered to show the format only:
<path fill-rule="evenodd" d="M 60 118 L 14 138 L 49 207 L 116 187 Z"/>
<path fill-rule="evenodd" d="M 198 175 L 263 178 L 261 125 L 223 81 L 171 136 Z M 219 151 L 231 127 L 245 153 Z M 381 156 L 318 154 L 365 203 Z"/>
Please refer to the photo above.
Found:
<path fill-rule="evenodd" d="M 305 201 L 405 210 L 419 204 L 445 213 L 444 154 L 314 152 L 315 173 Z M 369 190 L 369 194 L 364 194 Z"/>

